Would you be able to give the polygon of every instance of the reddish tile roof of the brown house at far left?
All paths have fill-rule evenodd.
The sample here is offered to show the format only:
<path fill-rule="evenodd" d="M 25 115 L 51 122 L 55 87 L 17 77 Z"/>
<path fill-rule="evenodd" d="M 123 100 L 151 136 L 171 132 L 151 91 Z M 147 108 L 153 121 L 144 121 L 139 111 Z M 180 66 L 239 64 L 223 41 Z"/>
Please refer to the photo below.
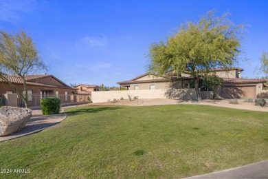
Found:
<path fill-rule="evenodd" d="M 23 81 L 21 79 L 21 77 L 19 76 L 6 76 L 8 78 L 8 81 L 10 81 L 11 83 L 14 84 L 23 84 Z M 0 82 L 5 82 L 0 78 Z M 62 86 L 62 85 L 47 85 L 47 84 L 43 84 L 43 83 L 34 83 L 31 81 L 26 81 L 27 85 L 34 85 L 34 86 L 41 86 L 41 87 L 56 87 L 56 88 L 65 88 L 65 89 L 72 89 L 69 86 Z"/>

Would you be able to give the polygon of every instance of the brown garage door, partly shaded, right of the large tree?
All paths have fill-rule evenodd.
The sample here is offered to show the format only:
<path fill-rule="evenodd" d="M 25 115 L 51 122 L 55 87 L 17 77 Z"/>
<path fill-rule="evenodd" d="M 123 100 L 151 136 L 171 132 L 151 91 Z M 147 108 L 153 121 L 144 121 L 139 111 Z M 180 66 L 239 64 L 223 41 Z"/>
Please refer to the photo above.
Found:
<path fill-rule="evenodd" d="M 223 86 L 221 87 L 223 98 L 255 98 L 256 85 L 254 86 Z"/>

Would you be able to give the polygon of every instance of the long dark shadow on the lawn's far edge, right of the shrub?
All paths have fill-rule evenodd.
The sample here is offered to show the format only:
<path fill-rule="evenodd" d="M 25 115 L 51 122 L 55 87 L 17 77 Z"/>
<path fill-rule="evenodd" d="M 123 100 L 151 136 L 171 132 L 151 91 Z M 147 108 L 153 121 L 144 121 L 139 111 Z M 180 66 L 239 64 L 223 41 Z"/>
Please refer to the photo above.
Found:
<path fill-rule="evenodd" d="M 82 108 L 82 109 L 75 109 L 71 112 L 66 112 L 67 116 L 75 116 L 78 114 L 86 114 L 86 113 L 97 113 L 97 112 L 103 112 L 103 111 L 114 111 L 117 109 L 121 109 L 122 107 L 88 107 L 88 108 Z"/>

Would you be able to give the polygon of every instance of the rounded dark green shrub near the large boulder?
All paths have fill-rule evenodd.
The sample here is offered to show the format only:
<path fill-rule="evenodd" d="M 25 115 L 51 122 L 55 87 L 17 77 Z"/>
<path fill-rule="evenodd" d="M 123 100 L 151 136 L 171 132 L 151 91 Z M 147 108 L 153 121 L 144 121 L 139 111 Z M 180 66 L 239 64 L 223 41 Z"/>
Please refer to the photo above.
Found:
<path fill-rule="evenodd" d="M 44 115 L 60 113 L 60 99 L 56 97 L 42 98 L 40 101 Z"/>

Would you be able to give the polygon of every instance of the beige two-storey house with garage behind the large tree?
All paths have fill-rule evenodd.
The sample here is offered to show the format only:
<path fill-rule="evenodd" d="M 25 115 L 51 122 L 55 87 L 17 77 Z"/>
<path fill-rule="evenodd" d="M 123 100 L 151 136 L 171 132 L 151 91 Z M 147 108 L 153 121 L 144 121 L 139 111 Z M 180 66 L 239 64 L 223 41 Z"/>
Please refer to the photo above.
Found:
<path fill-rule="evenodd" d="M 219 87 L 219 94 L 223 98 L 255 98 L 263 91 L 266 80 L 258 78 L 241 78 L 243 69 L 234 67 L 232 69 L 216 68 L 211 74 L 223 78 L 223 84 Z M 171 81 L 164 76 L 155 76 L 146 73 L 128 81 L 118 82 L 120 87 L 126 87 L 129 90 L 139 89 L 174 89 L 190 88 L 188 74 L 181 74 L 180 77 L 173 78 Z"/>

